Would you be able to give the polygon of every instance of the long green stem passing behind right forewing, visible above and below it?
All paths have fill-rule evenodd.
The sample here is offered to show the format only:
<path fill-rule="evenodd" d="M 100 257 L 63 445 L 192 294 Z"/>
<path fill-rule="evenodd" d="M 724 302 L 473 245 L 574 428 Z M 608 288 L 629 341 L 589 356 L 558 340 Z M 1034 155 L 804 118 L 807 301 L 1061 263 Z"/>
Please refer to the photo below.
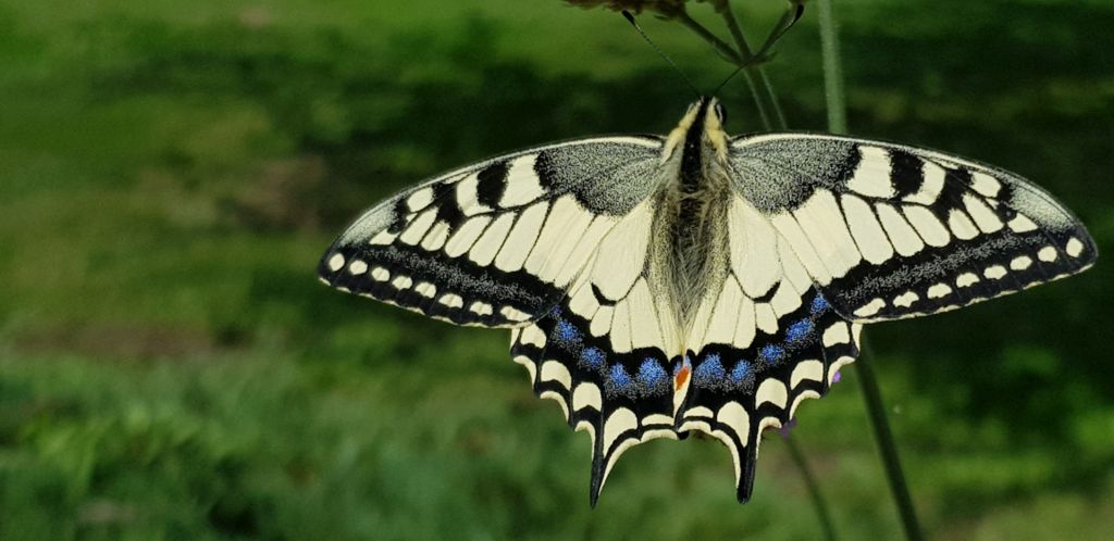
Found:
<path fill-rule="evenodd" d="M 824 99 L 828 106 L 828 129 L 833 134 L 847 132 L 847 99 L 843 95 L 843 72 L 839 57 L 839 32 L 836 26 L 836 14 L 832 12 L 833 0 L 818 0 L 820 19 L 820 47 L 824 67 Z M 898 459 L 898 447 L 893 442 L 893 432 L 886 416 L 882 393 L 878 388 L 878 380 L 870 365 L 871 353 L 866 341 L 861 342 L 859 360 L 854 363 L 859 375 L 859 385 L 866 402 L 870 426 L 874 433 L 874 442 L 882 455 L 886 469 L 886 480 L 889 482 L 893 502 L 901 515 L 906 539 L 919 541 L 925 538 L 917 520 L 917 510 L 909 495 L 905 471 Z"/>

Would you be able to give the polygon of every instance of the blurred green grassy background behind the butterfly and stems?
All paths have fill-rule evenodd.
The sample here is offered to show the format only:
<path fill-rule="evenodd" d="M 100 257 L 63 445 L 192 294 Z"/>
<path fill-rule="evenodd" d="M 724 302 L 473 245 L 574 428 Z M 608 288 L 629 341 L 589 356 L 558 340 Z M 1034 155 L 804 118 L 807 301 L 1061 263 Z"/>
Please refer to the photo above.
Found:
<path fill-rule="evenodd" d="M 753 39 L 781 2 L 735 1 Z M 837 2 L 853 134 L 1035 179 L 1114 242 L 1114 3 Z M 705 19 L 706 6 L 694 13 Z M 714 28 L 715 20 L 709 23 Z M 702 88 L 731 68 L 647 32 Z M 769 72 L 822 130 L 815 12 Z M 760 130 L 745 83 L 732 132 Z M 665 132 L 694 96 L 557 0 L 0 1 L 0 539 L 815 539 L 784 443 L 588 437 L 507 333 L 321 286 L 363 207 L 498 151 Z M 870 327 L 926 529 L 1108 539 L 1111 274 Z M 844 539 L 900 528 L 854 370 L 792 437 Z"/>

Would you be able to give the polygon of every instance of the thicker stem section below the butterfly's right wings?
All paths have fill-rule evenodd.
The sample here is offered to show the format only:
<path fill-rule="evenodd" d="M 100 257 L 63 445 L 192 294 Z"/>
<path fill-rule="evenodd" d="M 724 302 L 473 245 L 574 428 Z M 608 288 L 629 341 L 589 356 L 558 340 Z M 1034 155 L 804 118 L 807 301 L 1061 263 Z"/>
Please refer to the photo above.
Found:
<path fill-rule="evenodd" d="M 874 442 L 878 451 L 882 455 L 882 464 L 886 466 L 886 479 L 890 484 L 890 492 L 893 494 L 893 502 L 898 506 L 901 515 L 901 525 L 905 528 L 906 539 L 920 541 L 925 539 L 917 521 L 917 511 L 912 506 L 912 499 L 909 496 L 909 485 L 906 483 L 905 472 L 901 470 L 901 461 L 898 459 L 898 447 L 893 443 L 893 433 L 890 431 L 890 423 L 886 416 L 886 405 L 882 404 L 882 393 L 878 388 L 878 380 L 874 377 L 874 370 L 870 366 L 871 354 L 866 342 L 861 342 L 862 348 L 859 360 L 856 361 L 856 374 L 859 376 L 859 386 L 862 388 L 862 399 L 867 403 L 867 413 L 870 417 L 870 426 L 874 432 Z"/>

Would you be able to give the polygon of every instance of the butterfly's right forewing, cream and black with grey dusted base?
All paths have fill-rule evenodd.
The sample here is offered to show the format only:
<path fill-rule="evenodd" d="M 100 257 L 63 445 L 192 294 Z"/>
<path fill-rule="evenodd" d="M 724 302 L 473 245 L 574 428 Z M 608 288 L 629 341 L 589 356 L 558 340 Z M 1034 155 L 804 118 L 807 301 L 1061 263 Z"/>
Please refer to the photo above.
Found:
<path fill-rule="evenodd" d="M 885 142 L 736 139 L 739 191 L 856 321 L 942 312 L 1078 273 L 1094 240 L 1040 188 L 966 159 Z"/>

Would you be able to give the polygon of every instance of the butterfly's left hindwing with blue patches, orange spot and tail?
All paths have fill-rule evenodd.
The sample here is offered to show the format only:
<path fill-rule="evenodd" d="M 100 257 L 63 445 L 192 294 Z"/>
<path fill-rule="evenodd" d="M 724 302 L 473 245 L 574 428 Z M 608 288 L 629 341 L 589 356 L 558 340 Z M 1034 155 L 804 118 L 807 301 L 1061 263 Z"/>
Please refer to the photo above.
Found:
<path fill-rule="evenodd" d="M 534 391 L 557 401 L 571 427 L 592 436 L 590 502 L 619 455 L 674 430 L 673 368 L 680 337 L 672 307 L 651 293 L 653 207 L 633 210 L 600 242 L 569 295 L 515 331 L 511 356 Z"/>

